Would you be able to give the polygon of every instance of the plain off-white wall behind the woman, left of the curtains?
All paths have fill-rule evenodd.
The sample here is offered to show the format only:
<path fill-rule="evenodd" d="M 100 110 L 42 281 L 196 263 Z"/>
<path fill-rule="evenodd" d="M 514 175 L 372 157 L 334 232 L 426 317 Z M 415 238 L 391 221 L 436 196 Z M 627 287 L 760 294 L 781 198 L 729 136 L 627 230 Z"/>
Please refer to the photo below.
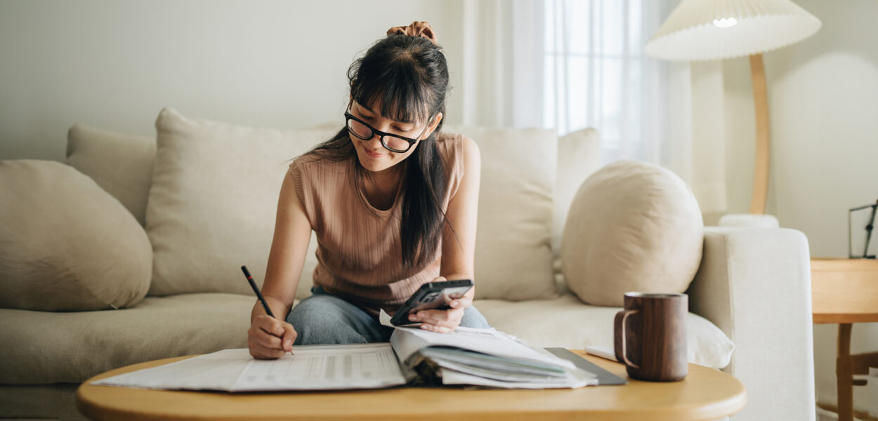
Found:
<path fill-rule="evenodd" d="M 346 72 L 426 20 L 459 122 L 460 1 L 0 0 L 0 159 L 64 157 L 74 123 L 155 135 L 162 107 L 242 125 L 342 121 Z M 341 124 L 341 123 L 340 123 Z"/>

